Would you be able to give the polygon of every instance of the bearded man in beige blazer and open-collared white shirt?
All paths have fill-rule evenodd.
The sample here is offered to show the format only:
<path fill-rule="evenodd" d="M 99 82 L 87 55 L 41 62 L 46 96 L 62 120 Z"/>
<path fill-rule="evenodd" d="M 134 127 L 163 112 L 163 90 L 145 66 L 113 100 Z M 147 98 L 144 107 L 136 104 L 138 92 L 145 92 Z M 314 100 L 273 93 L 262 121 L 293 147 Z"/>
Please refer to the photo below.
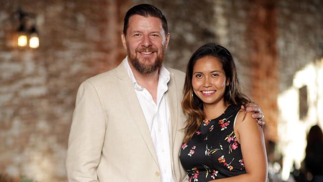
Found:
<path fill-rule="evenodd" d="M 67 153 L 70 182 L 180 182 L 184 73 L 162 65 L 166 18 L 150 5 L 128 10 L 128 56 L 79 88 Z M 260 109 L 258 106 L 249 109 Z M 256 115 L 262 117 L 262 114 Z M 259 118 L 260 118 L 259 117 Z"/>

